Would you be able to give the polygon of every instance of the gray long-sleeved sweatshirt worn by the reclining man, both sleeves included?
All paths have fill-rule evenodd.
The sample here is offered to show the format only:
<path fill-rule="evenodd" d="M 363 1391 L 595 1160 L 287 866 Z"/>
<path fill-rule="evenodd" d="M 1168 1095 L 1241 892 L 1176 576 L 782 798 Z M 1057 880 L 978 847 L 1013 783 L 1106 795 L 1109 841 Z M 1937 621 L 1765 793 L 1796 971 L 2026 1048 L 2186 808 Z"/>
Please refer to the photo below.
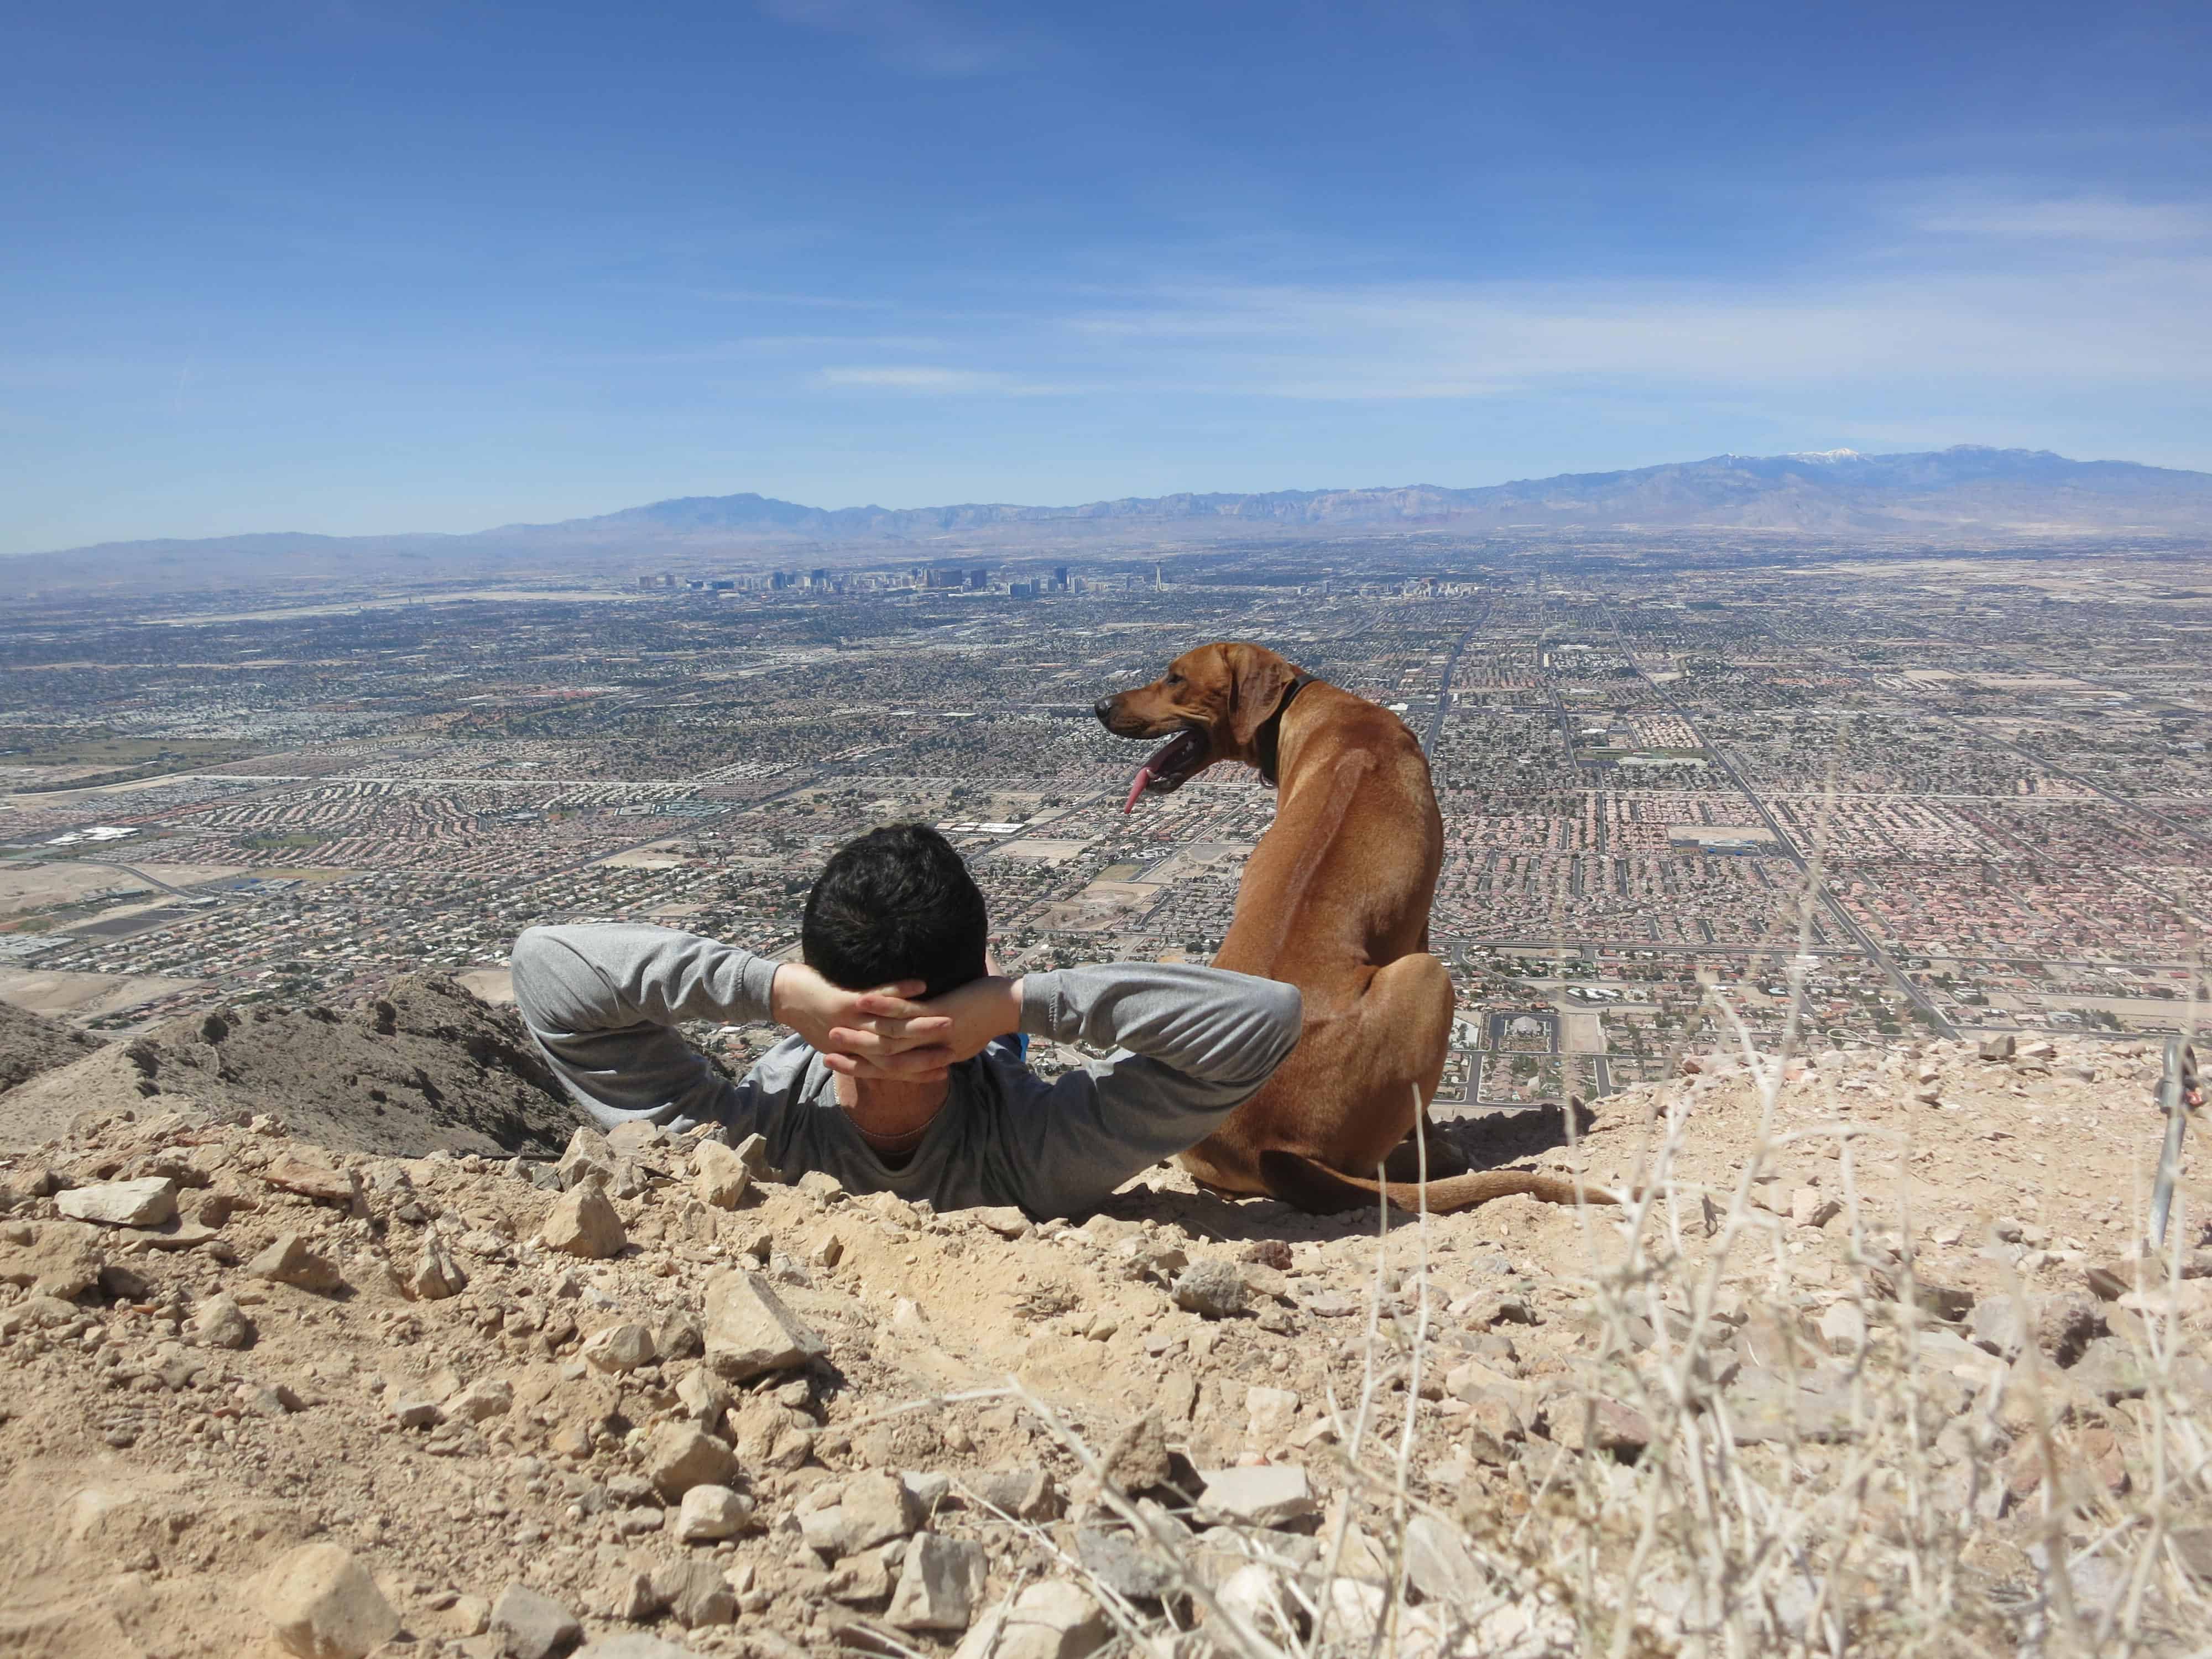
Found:
<path fill-rule="evenodd" d="M 854 1192 L 938 1210 L 1013 1203 L 1079 1214 L 1128 1177 L 1212 1135 L 1298 1040 L 1298 991 L 1206 967 L 1117 962 L 1029 973 L 1022 1031 L 1115 1046 L 1044 1082 L 1013 1044 L 951 1068 L 922 1144 L 887 1166 L 838 1110 L 832 1073 L 785 1037 L 732 1084 L 672 1031 L 768 1020 L 776 964 L 699 933 L 641 925 L 533 927 L 515 940 L 515 1004 L 553 1071 L 602 1128 L 717 1121 L 765 1135 L 770 1164 L 827 1170 Z"/>

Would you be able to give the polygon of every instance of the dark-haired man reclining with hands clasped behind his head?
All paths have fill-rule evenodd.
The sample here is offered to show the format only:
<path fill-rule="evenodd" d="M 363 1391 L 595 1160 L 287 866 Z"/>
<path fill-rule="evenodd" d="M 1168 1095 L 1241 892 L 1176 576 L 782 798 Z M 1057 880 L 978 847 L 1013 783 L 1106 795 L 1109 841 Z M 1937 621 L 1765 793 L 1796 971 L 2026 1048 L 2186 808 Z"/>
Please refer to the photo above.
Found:
<path fill-rule="evenodd" d="M 938 1210 L 1082 1214 L 1206 1139 L 1298 1040 L 1298 991 L 1208 967 L 991 971 L 982 891 L 927 825 L 841 847 L 807 894 L 803 962 L 641 925 L 533 927 L 515 1004 L 602 1128 L 650 1119 L 759 1133 L 790 1175 Z M 743 1082 L 679 1020 L 774 1020 L 792 1035 Z M 1113 1046 L 1044 1082 L 1024 1037 Z"/>

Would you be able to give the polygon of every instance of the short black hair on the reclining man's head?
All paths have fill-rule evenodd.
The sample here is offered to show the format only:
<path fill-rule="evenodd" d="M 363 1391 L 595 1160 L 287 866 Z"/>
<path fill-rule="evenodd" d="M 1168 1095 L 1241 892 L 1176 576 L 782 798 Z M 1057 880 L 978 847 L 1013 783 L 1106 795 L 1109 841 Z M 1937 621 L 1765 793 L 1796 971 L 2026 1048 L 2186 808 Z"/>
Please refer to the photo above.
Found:
<path fill-rule="evenodd" d="M 940 995 L 984 975 L 991 922 L 953 845 L 927 823 L 847 841 L 807 894 L 799 949 L 830 984 L 922 980 Z"/>

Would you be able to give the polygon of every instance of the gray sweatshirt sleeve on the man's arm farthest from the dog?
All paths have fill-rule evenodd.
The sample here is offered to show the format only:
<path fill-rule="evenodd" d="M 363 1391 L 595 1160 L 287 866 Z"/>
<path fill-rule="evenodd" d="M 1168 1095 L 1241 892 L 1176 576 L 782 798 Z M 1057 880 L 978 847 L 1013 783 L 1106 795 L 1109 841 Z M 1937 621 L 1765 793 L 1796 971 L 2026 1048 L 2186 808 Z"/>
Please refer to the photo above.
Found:
<path fill-rule="evenodd" d="M 511 956 L 515 1009 L 568 1095 L 599 1128 L 730 1115 L 730 1084 L 672 1029 L 768 1020 L 776 964 L 668 927 L 533 927 Z"/>

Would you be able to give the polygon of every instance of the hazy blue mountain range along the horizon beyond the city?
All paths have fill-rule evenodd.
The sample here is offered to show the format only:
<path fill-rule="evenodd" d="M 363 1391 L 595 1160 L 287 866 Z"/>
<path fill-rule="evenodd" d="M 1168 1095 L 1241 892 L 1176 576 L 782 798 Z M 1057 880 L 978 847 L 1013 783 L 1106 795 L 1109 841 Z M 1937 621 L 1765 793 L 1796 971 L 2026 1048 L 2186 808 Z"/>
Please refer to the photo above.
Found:
<path fill-rule="evenodd" d="M 363 577 L 416 571 L 471 575 L 604 568 L 670 555 L 732 564 L 805 546 L 880 549 L 885 557 L 967 549 L 1106 549 L 1259 538 L 1444 531 L 1763 531 L 1823 538 L 2051 538 L 2212 533 L 2212 473 L 2126 460 L 2068 460 L 2046 449 L 1953 449 L 1863 456 L 1712 456 L 1615 473 L 1449 489 L 1279 489 L 1181 493 L 1082 507 L 801 507 L 768 495 L 684 495 L 557 524 L 502 524 L 469 535 L 305 533 L 71 549 L 35 586 L 221 586 L 237 580 Z"/>

